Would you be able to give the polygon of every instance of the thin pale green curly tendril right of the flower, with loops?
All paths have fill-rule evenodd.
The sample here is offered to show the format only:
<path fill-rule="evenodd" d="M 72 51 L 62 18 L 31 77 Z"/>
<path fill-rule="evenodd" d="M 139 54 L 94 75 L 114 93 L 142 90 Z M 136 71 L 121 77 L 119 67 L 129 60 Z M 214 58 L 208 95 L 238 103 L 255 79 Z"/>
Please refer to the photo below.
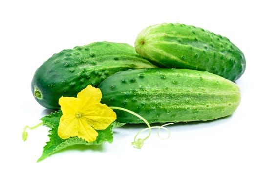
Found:
<path fill-rule="evenodd" d="M 117 109 L 117 110 L 122 110 L 122 111 L 128 112 L 128 113 L 130 113 L 130 114 L 132 114 L 132 115 L 134 115 L 134 116 L 136 116 L 136 117 L 142 119 L 142 121 L 144 121 L 144 122 L 147 124 L 147 126 L 148 126 L 147 128 L 140 130 L 140 131 L 134 136 L 134 141 L 133 141 L 131 144 L 132 144 L 133 146 L 135 146 L 136 148 L 142 148 L 142 146 L 143 146 L 143 144 L 144 144 L 144 141 L 149 138 L 149 136 L 151 135 L 151 129 L 153 129 L 153 128 L 158 128 L 158 130 L 157 130 L 157 135 L 158 135 L 158 137 L 159 137 L 160 139 L 168 139 L 168 138 L 171 136 L 170 130 L 167 129 L 166 127 L 164 127 L 164 126 L 167 126 L 167 125 L 170 125 L 170 124 L 173 124 L 173 123 L 167 123 L 167 124 L 164 124 L 164 125 L 162 125 L 162 126 L 152 126 L 152 127 L 151 127 L 150 124 L 149 124 L 149 122 L 148 122 L 146 119 L 144 119 L 142 116 L 140 116 L 139 114 L 137 114 L 137 113 L 135 113 L 135 112 L 133 112 L 133 111 L 130 111 L 130 110 L 125 109 L 125 108 L 122 108 L 122 107 L 114 107 L 114 106 L 112 106 L 112 107 L 110 107 L 110 108 L 111 108 L 111 109 Z M 166 131 L 168 132 L 168 136 L 167 136 L 166 138 L 162 138 L 162 137 L 160 136 L 160 134 L 159 134 L 160 129 L 164 129 L 164 130 L 166 130 Z M 146 131 L 146 130 L 149 130 L 149 135 L 146 136 L 144 139 L 139 138 L 139 139 L 136 140 L 137 136 L 138 136 L 141 132 L 144 132 L 144 131 Z"/>

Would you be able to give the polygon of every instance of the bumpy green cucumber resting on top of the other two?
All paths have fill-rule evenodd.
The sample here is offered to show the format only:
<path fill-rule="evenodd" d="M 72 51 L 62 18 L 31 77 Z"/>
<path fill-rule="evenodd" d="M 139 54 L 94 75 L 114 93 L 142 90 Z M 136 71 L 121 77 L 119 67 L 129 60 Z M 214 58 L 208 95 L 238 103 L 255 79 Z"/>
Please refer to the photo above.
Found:
<path fill-rule="evenodd" d="M 159 66 L 208 71 L 231 81 L 246 68 L 243 52 L 228 38 L 184 24 L 149 26 L 138 34 L 135 48 Z"/>

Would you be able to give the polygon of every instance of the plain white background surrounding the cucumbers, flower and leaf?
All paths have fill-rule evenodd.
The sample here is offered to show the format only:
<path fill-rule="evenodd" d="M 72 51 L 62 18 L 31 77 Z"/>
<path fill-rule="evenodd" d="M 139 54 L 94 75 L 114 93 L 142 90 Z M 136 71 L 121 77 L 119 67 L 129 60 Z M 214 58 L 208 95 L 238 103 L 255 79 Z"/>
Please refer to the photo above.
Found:
<path fill-rule="evenodd" d="M 1 0 L 0 169 L 256 170 L 256 12 L 252 2 Z M 28 130 L 26 142 L 21 137 L 25 125 L 39 123 L 48 112 L 31 93 L 35 70 L 54 53 L 74 46 L 96 41 L 134 45 L 142 29 L 164 22 L 221 34 L 244 52 L 247 68 L 236 81 L 242 100 L 235 113 L 211 122 L 172 125 L 168 140 L 159 139 L 153 131 L 142 149 L 133 148 L 131 142 L 144 126 L 115 129 L 112 144 L 71 147 L 36 163 L 49 129 Z"/>

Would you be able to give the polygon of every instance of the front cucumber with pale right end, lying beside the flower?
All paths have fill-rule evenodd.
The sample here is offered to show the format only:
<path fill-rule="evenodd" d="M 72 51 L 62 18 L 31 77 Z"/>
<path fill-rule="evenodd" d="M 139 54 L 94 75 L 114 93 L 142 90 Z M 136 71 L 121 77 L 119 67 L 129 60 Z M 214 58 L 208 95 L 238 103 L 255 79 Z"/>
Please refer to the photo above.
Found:
<path fill-rule="evenodd" d="M 127 70 L 108 77 L 98 88 L 102 103 L 134 111 L 149 123 L 218 119 L 234 113 L 240 103 L 234 82 L 188 69 Z M 143 123 L 126 112 L 115 112 L 118 122 Z"/>

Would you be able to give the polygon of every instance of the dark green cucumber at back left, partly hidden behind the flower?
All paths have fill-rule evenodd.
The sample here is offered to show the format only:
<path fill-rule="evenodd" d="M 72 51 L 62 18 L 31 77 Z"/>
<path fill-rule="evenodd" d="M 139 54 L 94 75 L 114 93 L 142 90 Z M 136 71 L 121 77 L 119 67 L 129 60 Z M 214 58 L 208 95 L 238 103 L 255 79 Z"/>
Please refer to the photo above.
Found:
<path fill-rule="evenodd" d="M 37 102 L 59 109 L 61 96 L 75 97 L 87 85 L 127 69 L 157 68 L 125 43 L 95 42 L 54 54 L 35 72 L 31 83 Z"/>

